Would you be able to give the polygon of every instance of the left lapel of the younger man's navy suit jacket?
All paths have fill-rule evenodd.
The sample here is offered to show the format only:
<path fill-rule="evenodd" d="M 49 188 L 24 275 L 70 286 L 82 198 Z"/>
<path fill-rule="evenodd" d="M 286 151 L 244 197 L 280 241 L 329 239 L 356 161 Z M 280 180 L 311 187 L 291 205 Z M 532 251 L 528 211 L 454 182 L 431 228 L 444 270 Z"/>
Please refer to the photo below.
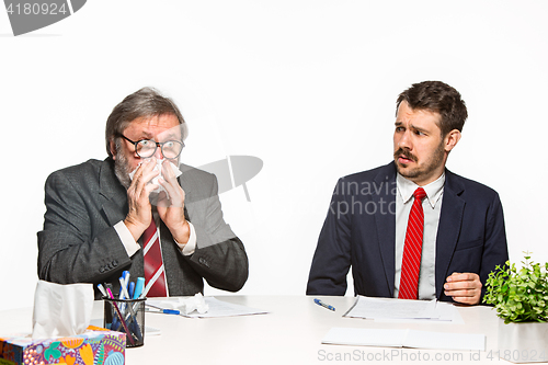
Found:
<path fill-rule="evenodd" d="M 385 270 L 385 276 L 391 297 L 393 296 L 396 271 L 396 215 L 390 210 L 390 207 L 393 207 L 396 202 L 396 195 L 393 194 L 393 190 L 396 189 L 396 167 L 393 162 L 379 171 L 374 180 L 373 187 L 376 189 L 372 196 L 377 210 L 384 207 L 387 212 L 386 214 L 379 214 L 380 212 L 377 212 L 377 214 L 375 214 L 375 223 L 383 267 Z"/>

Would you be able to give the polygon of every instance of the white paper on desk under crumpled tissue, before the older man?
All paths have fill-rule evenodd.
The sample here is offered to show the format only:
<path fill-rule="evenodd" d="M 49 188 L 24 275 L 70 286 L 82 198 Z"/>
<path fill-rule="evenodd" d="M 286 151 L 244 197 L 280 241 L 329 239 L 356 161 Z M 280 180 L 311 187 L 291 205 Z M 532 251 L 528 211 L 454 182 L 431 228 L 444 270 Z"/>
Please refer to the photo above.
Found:
<path fill-rule="evenodd" d="M 181 311 L 181 316 L 190 318 L 215 318 L 267 313 L 264 310 L 231 304 L 228 301 L 219 300 L 215 297 L 204 297 L 204 299 L 206 305 L 208 306 L 208 310 L 206 312 L 199 313 L 198 311 L 192 311 L 187 315 L 184 315 L 184 311 Z M 147 299 L 147 303 L 161 308 L 178 309 L 176 307 L 172 306 L 172 303 L 174 300 L 175 298 Z"/>

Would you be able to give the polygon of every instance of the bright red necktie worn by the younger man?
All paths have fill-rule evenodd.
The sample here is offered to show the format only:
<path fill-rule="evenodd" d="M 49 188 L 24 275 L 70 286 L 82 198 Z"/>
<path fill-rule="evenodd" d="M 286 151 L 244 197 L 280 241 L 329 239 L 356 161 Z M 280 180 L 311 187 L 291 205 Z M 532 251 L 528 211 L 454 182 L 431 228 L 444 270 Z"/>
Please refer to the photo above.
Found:
<path fill-rule="evenodd" d="M 414 193 L 413 206 L 409 213 L 403 261 L 401 263 L 400 290 L 398 298 L 419 298 L 419 272 L 421 271 L 422 233 L 424 230 L 424 212 L 422 199 L 426 196 L 424 189 L 418 187 Z"/>

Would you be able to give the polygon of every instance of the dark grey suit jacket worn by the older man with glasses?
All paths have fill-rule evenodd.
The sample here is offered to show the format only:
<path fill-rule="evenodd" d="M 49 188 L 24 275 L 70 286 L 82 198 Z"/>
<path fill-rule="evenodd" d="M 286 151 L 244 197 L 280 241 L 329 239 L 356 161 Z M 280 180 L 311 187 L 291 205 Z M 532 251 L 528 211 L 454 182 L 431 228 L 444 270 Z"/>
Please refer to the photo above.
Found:
<path fill-rule="evenodd" d="M 248 278 L 248 256 L 222 219 L 217 179 L 187 166 L 181 170 L 185 214 L 197 241 L 195 252 L 183 255 L 161 223 L 169 294 L 203 292 L 203 278 L 213 287 L 237 292 Z M 89 160 L 50 174 L 45 204 L 44 229 L 38 232 L 39 278 L 60 284 L 113 283 L 117 290 L 122 271 L 128 270 L 134 280 L 145 276 L 142 250 L 129 258 L 113 228 L 126 217 L 128 204 L 112 159 Z M 100 297 L 96 287 L 95 296 Z"/>

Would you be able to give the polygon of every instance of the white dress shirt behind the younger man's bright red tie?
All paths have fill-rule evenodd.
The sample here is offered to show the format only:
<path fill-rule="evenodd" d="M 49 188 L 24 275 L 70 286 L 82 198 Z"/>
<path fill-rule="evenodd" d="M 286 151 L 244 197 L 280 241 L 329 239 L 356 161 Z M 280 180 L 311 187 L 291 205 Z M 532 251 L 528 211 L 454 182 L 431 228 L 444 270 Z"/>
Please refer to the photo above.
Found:
<path fill-rule="evenodd" d="M 414 182 L 398 173 L 396 178 L 396 275 L 393 297 L 398 297 L 401 277 L 403 246 L 408 228 L 409 214 L 413 205 L 413 193 L 419 187 Z M 424 231 L 422 240 L 421 271 L 419 273 L 419 299 L 436 297 L 436 237 L 442 212 L 442 196 L 445 185 L 445 172 L 434 182 L 422 186 L 426 197 L 422 201 L 424 210 Z"/>

